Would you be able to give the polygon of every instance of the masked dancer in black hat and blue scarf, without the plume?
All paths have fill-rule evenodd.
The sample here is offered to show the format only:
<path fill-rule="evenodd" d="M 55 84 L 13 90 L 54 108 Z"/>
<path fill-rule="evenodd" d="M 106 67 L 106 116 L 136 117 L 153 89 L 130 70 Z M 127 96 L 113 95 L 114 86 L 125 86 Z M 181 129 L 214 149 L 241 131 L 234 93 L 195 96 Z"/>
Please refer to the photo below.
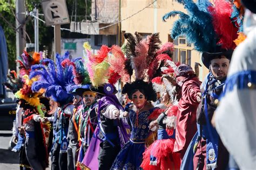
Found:
<path fill-rule="evenodd" d="M 217 49 L 205 52 L 202 61 L 210 70 L 202 84 L 202 100 L 198 107 L 198 137 L 194 146 L 194 169 L 225 169 L 228 167 L 228 152 L 217 131 L 211 124 L 213 112 L 217 108 L 216 101 L 223 91 L 228 67 L 233 50 Z"/>

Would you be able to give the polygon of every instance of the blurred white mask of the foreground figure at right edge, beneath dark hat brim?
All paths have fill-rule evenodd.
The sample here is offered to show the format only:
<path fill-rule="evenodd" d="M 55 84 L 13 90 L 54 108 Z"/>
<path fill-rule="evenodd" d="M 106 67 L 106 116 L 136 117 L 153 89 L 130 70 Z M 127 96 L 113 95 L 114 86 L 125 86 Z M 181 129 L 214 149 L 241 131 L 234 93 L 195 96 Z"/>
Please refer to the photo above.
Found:
<path fill-rule="evenodd" d="M 245 10 L 243 27 L 246 35 L 256 27 L 256 14 L 248 9 Z"/>

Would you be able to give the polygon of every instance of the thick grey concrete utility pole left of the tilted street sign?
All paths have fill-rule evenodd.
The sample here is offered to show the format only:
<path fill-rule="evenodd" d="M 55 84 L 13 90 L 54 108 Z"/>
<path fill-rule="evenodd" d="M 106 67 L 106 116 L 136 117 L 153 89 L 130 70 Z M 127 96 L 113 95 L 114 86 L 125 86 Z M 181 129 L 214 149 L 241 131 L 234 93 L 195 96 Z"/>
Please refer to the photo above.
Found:
<path fill-rule="evenodd" d="M 26 46 L 25 30 L 25 0 L 16 1 L 16 59 L 23 53 L 23 49 Z M 17 72 L 19 70 L 18 65 L 16 66 Z"/>

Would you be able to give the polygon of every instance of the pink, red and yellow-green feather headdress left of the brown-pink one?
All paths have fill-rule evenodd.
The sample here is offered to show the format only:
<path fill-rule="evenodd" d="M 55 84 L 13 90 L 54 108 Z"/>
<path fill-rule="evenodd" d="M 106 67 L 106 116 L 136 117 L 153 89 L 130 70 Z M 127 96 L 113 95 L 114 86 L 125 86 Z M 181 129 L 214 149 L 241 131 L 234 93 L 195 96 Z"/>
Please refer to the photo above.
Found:
<path fill-rule="evenodd" d="M 119 79 L 129 81 L 129 75 L 124 70 L 125 57 L 122 49 L 113 45 L 111 48 L 103 45 L 97 54 L 91 53 L 91 47 L 88 42 L 84 43 L 87 57 L 87 70 L 92 85 L 95 87 L 110 83 L 112 86 Z"/>

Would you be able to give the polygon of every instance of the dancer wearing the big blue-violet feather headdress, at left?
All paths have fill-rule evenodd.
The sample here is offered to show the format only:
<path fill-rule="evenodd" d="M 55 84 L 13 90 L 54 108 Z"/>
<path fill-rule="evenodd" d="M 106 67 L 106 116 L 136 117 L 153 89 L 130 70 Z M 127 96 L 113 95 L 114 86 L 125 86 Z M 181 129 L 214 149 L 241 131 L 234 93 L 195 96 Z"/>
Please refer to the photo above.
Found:
<path fill-rule="evenodd" d="M 32 66 L 30 77 L 39 77 L 38 81 L 33 82 L 33 91 L 45 90 L 45 96 L 50 97 L 58 104 L 56 136 L 52 148 L 52 169 L 68 169 L 67 139 L 69 118 L 73 113 L 73 95 L 68 94 L 66 86 L 73 83 L 72 67 L 62 65 L 62 61 L 69 58 L 66 52 L 63 56 L 56 54 L 56 65 L 50 59 L 44 59 L 43 64 Z"/>

